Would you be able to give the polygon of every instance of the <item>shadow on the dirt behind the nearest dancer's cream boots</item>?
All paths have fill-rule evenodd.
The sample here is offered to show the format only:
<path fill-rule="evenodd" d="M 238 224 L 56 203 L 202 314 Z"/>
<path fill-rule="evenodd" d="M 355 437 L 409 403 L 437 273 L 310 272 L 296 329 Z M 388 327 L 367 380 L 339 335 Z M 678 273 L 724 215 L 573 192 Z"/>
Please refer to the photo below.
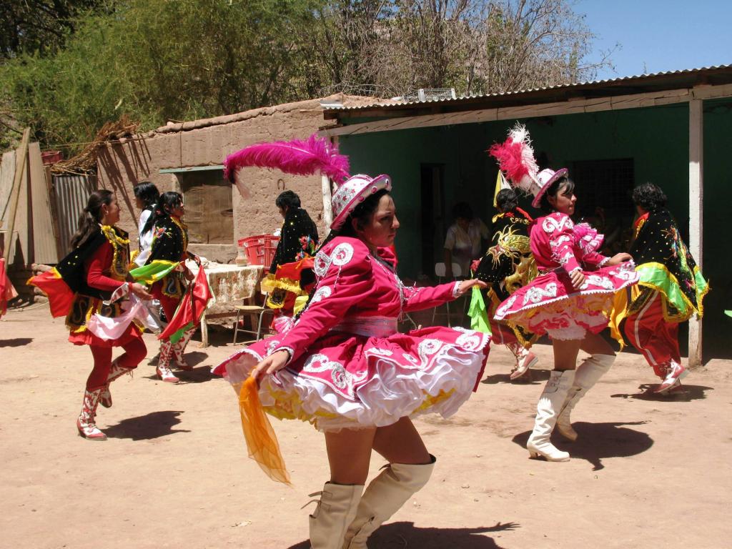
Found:
<path fill-rule="evenodd" d="M 389 523 L 381 526 L 369 538 L 370 549 L 501 549 L 492 537 L 482 534 L 517 529 L 517 523 L 498 523 L 496 526 L 480 528 L 418 528 L 414 523 Z M 305 540 L 288 549 L 308 549 Z"/>

